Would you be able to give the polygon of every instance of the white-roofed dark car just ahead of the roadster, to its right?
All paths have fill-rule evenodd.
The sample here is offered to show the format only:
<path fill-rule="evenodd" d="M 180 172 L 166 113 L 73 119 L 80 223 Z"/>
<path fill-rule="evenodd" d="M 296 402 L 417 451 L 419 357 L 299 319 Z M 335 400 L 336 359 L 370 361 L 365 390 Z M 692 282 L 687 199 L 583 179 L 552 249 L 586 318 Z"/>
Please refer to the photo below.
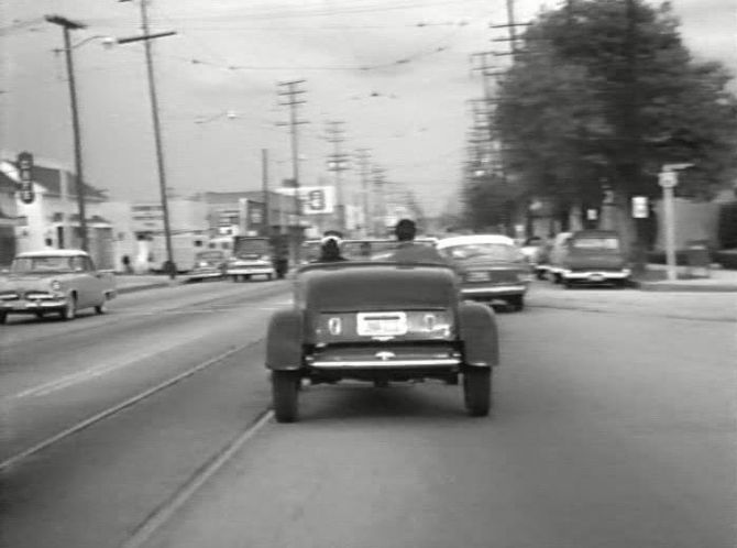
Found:
<path fill-rule="evenodd" d="M 505 302 L 515 310 L 525 307 L 531 268 L 512 238 L 469 234 L 444 238 L 438 251 L 457 265 L 464 298 Z"/>

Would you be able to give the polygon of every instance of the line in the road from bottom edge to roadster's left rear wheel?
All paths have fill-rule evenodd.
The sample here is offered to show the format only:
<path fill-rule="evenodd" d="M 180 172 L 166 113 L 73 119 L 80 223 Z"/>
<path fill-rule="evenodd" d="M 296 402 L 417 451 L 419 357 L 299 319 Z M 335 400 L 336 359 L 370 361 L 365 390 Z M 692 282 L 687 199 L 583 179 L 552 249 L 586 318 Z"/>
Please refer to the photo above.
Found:
<path fill-rule="evenodd" d="M 156 531 L 168 522 L 176 512 L 189 501 L 197 491 L 207 483 L 218 471 L 241 450 L 273 418 L 274 412 L 267 410 L 258 420 L 246 428 L 243 434 L 228 443 L 216 454 L 204 470 L 195 474 L 179 489 L 172 498 L 162 504 L 147 519 L 145 519 L 123 542 L 120 548 L 141 548 L 151 540 Z"/>

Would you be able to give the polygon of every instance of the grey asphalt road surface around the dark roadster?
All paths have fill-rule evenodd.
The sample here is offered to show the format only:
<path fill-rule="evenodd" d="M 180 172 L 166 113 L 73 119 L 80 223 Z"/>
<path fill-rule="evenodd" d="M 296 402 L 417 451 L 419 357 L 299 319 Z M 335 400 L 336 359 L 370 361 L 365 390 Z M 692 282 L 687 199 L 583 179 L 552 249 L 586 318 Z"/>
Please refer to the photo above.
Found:
<path fill-rule="evenodd" d="M 734 297 L 540 283 L 498 315 L 491 417 L 458 386 L 344 385 L 277 425 L 260 339 L 278 284 L 7 326 L 3 462 L 182 379 L 6 465 L 0 544 L 735 546 Z"/>

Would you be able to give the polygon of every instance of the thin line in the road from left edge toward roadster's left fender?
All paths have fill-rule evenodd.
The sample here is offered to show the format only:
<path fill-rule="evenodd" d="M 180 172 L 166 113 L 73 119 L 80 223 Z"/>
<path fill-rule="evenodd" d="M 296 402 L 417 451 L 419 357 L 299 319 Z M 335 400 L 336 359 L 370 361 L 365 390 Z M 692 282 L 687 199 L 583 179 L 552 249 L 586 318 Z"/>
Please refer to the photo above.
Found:
<path fill-rule="evenodd" d="M 153 386 L 152 388 L 148 388 L 144 392 L 141 392 L 140 394 L 136 394 L 135 396 L 129 397 L 128 399 L 125 399 L 125 401 L 123 401 L 123 402 L 121 402 L 117 405 L 113 405 L 112 407 L 108 407 L 107 409 L 101 410 L 97 415 L 94 415 L 94 416 L 91 416 L 91 417 L 89 417 L 85 420 L 81 420 L 81 421 L 77 423 L 76 425 L 70 426 L 69 428 L 67 428 L 65 430 L 62 430 L 61 432 L 58 432 L 58 434 L 56 434 L 56 435 L 54 435 L 50 438 L 46 438 L 43 441 L 40 441 L 38 443 L 21 451 L 20 453 L 16 453 L 13 457 L 10 457 L 9 459 L 6 459 L 2 462 L 0 462 L 0 471 L 20 462 L 21 460 L 23 460 L 23 459 L 25 459 L 25 458 L 28 458 L 28 457 L 30 457 L 34 453 L 37 453 L 42 449 L 45 449 L 48 446 L 51 446 L 53 443 L 56 443 L 57 441 L 61 441 L 62 439 L 64 439 L 68 436 L 72 436 L 73 434 L 77 434 L 78 431 L 81 431 L 85 428 L 88 428 L 88 427 L 92 426 L 95 423 L 99 423 L 100 420 L 102 420 L 102 419 L 105 419 L 105 418 L 107 418 L 111 415 L 114 415 L 116 413 L 118 413 L 118 412 L 120 412 L 120 410 L 122 410 L 127 407 L 130 407 L 132 405 L 138 404 L 142 399 L 145 399 L 145 398 L 156 394 L 157 392 L 163 391 L 164 388 L 168 388 L 169 386 L 173 386 L 174 384 L 177 384 L 180 381 L 184 381 L 185 379 L 194 375 L 195 373 L 197 373 L 199 371 L 202 371 L 204 369 L 209 368 L 210 365 L 213 365 L 218 362 L 221 362 L 222 360 L 224 360 L 226 358 L 234 354 L 235 352 L 240 352 L 241 350 L 243 350 L 245 348 L 249 348 L 253 344 L 258 343 L 260 340 L 251 341 L 246 344 L 240 344 L 235 348 L 227 350 L 227 351 L 216 355 L 215 358 L 210 358 L 209 360 L 207 360 L 207 361 L 205 361 L 205 362 L 202 362 L 198 365 L 195 365 L 194 368 L 190 368 L 187 371 L 184 371 L 183 373 L 179 373 L 178 375 L 169 379 L 168 381 L 164 381 L 164 382 L 157 384 L 156 386 Z"/>

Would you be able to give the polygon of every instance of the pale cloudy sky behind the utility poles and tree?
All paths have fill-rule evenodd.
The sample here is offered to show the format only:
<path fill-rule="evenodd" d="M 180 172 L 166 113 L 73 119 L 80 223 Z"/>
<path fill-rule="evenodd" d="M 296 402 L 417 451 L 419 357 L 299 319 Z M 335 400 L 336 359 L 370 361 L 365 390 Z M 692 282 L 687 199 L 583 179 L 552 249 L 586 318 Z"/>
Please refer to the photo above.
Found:
<path fill-rule="evenodd" d="M 559 1 L 516 0 L 529 21 Z M 170 193 L 256 190 L 262 150 L 273 186 L 292 176 L 278 84 L 299 85 L 300 184 L 332 180 L 329 121 L 344 129 L 342 153 L 371 151 L 393 188 L 415 193 L 429 215 L 455 198 L 470 101 L 482 96 L 472 53 L 504 52 L 506 0 L 150 0 L 165 174 Z M 737 74 L 737 0 L 673 0 L 696 58 Z M 106 47 L 105 36 L 140 34 L 139 0 L 0 0 L 0 150 L 26 150 L 74 165 L 61 14 L 73 32 L 84 173 L 121 200 L 157 200 L 158 177 L 142 43 Z M 89 39 L 89 40 L 88 40 Z M 84 42 L 84 43 L 82 43 Z M 496 57 L 499 67 L 508 57 Z M 733 85 L 733 89 L 737 86 Z M 350 200 L 358 163 L 342 174 Z"/>

